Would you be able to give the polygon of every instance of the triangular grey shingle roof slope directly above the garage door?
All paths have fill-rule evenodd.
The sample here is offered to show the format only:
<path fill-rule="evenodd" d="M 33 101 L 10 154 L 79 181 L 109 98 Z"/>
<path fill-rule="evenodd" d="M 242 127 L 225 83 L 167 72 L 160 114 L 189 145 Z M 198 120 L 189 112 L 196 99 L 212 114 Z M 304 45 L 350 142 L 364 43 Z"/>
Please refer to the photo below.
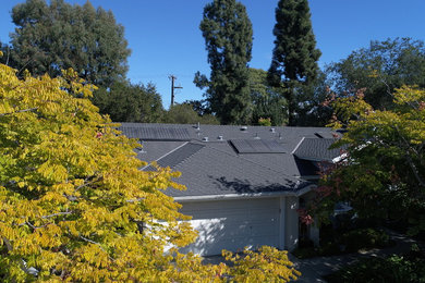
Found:
<path fill-rule="evenodd" d="M 172 197 L 296 192 L 308 182 L 283 175 L 267 167 L 212 147 L 204 147 L 174 170 L 187 190 L 168 190 Z"/>

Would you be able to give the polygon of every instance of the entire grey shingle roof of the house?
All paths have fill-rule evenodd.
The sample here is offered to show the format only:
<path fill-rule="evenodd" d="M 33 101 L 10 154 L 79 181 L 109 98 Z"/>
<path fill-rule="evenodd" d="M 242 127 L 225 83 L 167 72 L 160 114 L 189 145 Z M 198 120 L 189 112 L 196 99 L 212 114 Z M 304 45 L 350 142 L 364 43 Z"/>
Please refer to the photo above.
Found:
<path fill-rule="evenodd" d="M 156 133 L 162 134 L 155 137 L 150 128 L 159 128 Z M 327 150 L 329 140 L 333 139 L 317 135 L 333 136 L 330 128 L 324 127 L 201 125 L 198 128 L 197 125 L 123 123 L 120 130 L 141 140 L 158 139 L 144 142 L 144 152 L 138 158 L 156 160 L 161 167 L 182 172 L 177 182 L 187 190 L 166 190 L 173 197 L 298 192 L 311 184 L 302 176 L 317 172 L 311 160 L 316 157 L 331 160 L 337 152 Z M 172 139 L 175 136 L 190 140 Z M 204 137 L 208 137 L 207 143 L 203 142 Z M 238 147 L 241 140 L 244 146 Z M 246 152 L 246 145 L 255 146 Z M 259 149 L 267 149 L 268 153 Z M 306 159 L 308 155 L 313 158 Z"/>

